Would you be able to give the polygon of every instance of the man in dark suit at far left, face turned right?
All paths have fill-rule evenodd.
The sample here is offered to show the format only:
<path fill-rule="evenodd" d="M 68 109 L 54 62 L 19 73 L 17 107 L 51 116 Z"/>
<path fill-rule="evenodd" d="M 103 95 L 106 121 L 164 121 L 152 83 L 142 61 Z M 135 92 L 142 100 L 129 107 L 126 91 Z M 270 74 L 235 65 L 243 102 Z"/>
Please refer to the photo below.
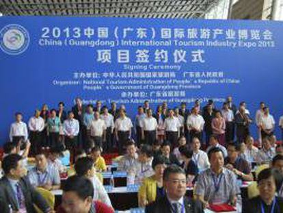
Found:
<path fill-rule="evenodd" d="M 44 213 L 53 212 L 45 199 L 25 178 L 27 170 L 23 166 L 21 155 L 11 154 L 6 156 L 2 167 L 5 176 L 0 180 L 1 212 L 33 213 L 36 212 L 33 204 L 36 204 Z"/>

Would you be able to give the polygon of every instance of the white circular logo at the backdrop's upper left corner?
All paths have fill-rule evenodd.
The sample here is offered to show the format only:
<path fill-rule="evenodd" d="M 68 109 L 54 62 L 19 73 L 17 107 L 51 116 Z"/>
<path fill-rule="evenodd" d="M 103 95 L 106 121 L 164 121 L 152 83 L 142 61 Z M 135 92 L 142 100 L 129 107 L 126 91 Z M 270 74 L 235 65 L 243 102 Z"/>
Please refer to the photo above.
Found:
<path fill-rule="evenodd" d="M 29 32 L 21 25 L 7 25 L 0 31 L 0 48 L 9 55 L 23 53 L 29 46 Z"/>

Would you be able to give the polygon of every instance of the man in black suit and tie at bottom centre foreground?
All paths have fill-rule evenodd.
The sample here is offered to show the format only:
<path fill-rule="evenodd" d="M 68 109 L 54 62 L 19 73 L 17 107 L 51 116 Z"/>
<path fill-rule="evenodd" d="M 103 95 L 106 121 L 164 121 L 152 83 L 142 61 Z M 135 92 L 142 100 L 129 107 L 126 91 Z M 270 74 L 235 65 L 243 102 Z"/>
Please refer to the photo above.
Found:
<path fill-rule="evenodd" d="M 146 213 L 202 213 L 202 204 L 185 197 L 186 175 L 182 168 L 172 165 L 165 168 L 163 186 L 166 194 L 146 206 Z"/>

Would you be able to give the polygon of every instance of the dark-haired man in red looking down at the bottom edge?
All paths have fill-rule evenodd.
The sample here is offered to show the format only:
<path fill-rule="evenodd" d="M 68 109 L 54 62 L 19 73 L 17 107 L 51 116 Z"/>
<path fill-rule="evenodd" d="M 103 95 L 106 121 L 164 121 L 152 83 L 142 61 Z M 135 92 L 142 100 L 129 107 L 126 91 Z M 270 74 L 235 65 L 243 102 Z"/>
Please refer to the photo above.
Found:
<path fill-rule="evenodd" d="M 63 186 L 62 203 L 57 213 L 113 213 L 113 208 L 93 201 L 94 187 L 86 177 L 72 176 Z"/>

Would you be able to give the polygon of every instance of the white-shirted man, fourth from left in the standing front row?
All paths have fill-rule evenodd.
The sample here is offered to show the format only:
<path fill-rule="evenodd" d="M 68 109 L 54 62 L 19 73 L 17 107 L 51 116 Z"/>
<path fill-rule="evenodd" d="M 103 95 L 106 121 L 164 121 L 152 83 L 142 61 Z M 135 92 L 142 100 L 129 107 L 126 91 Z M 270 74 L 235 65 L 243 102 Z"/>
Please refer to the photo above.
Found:
<path fill-rule="evenodd" d="M 75 147 L 78 146 L 78 134 L 79 134 L 79 121 L 74 117 L 75 117 L 74 112 L 72 111 L 68 112 L 68 119 L 65 120 L 63 124 L 66 149 L 68 149 L 70 153 L 73 154 L 75 154 Z"/>

